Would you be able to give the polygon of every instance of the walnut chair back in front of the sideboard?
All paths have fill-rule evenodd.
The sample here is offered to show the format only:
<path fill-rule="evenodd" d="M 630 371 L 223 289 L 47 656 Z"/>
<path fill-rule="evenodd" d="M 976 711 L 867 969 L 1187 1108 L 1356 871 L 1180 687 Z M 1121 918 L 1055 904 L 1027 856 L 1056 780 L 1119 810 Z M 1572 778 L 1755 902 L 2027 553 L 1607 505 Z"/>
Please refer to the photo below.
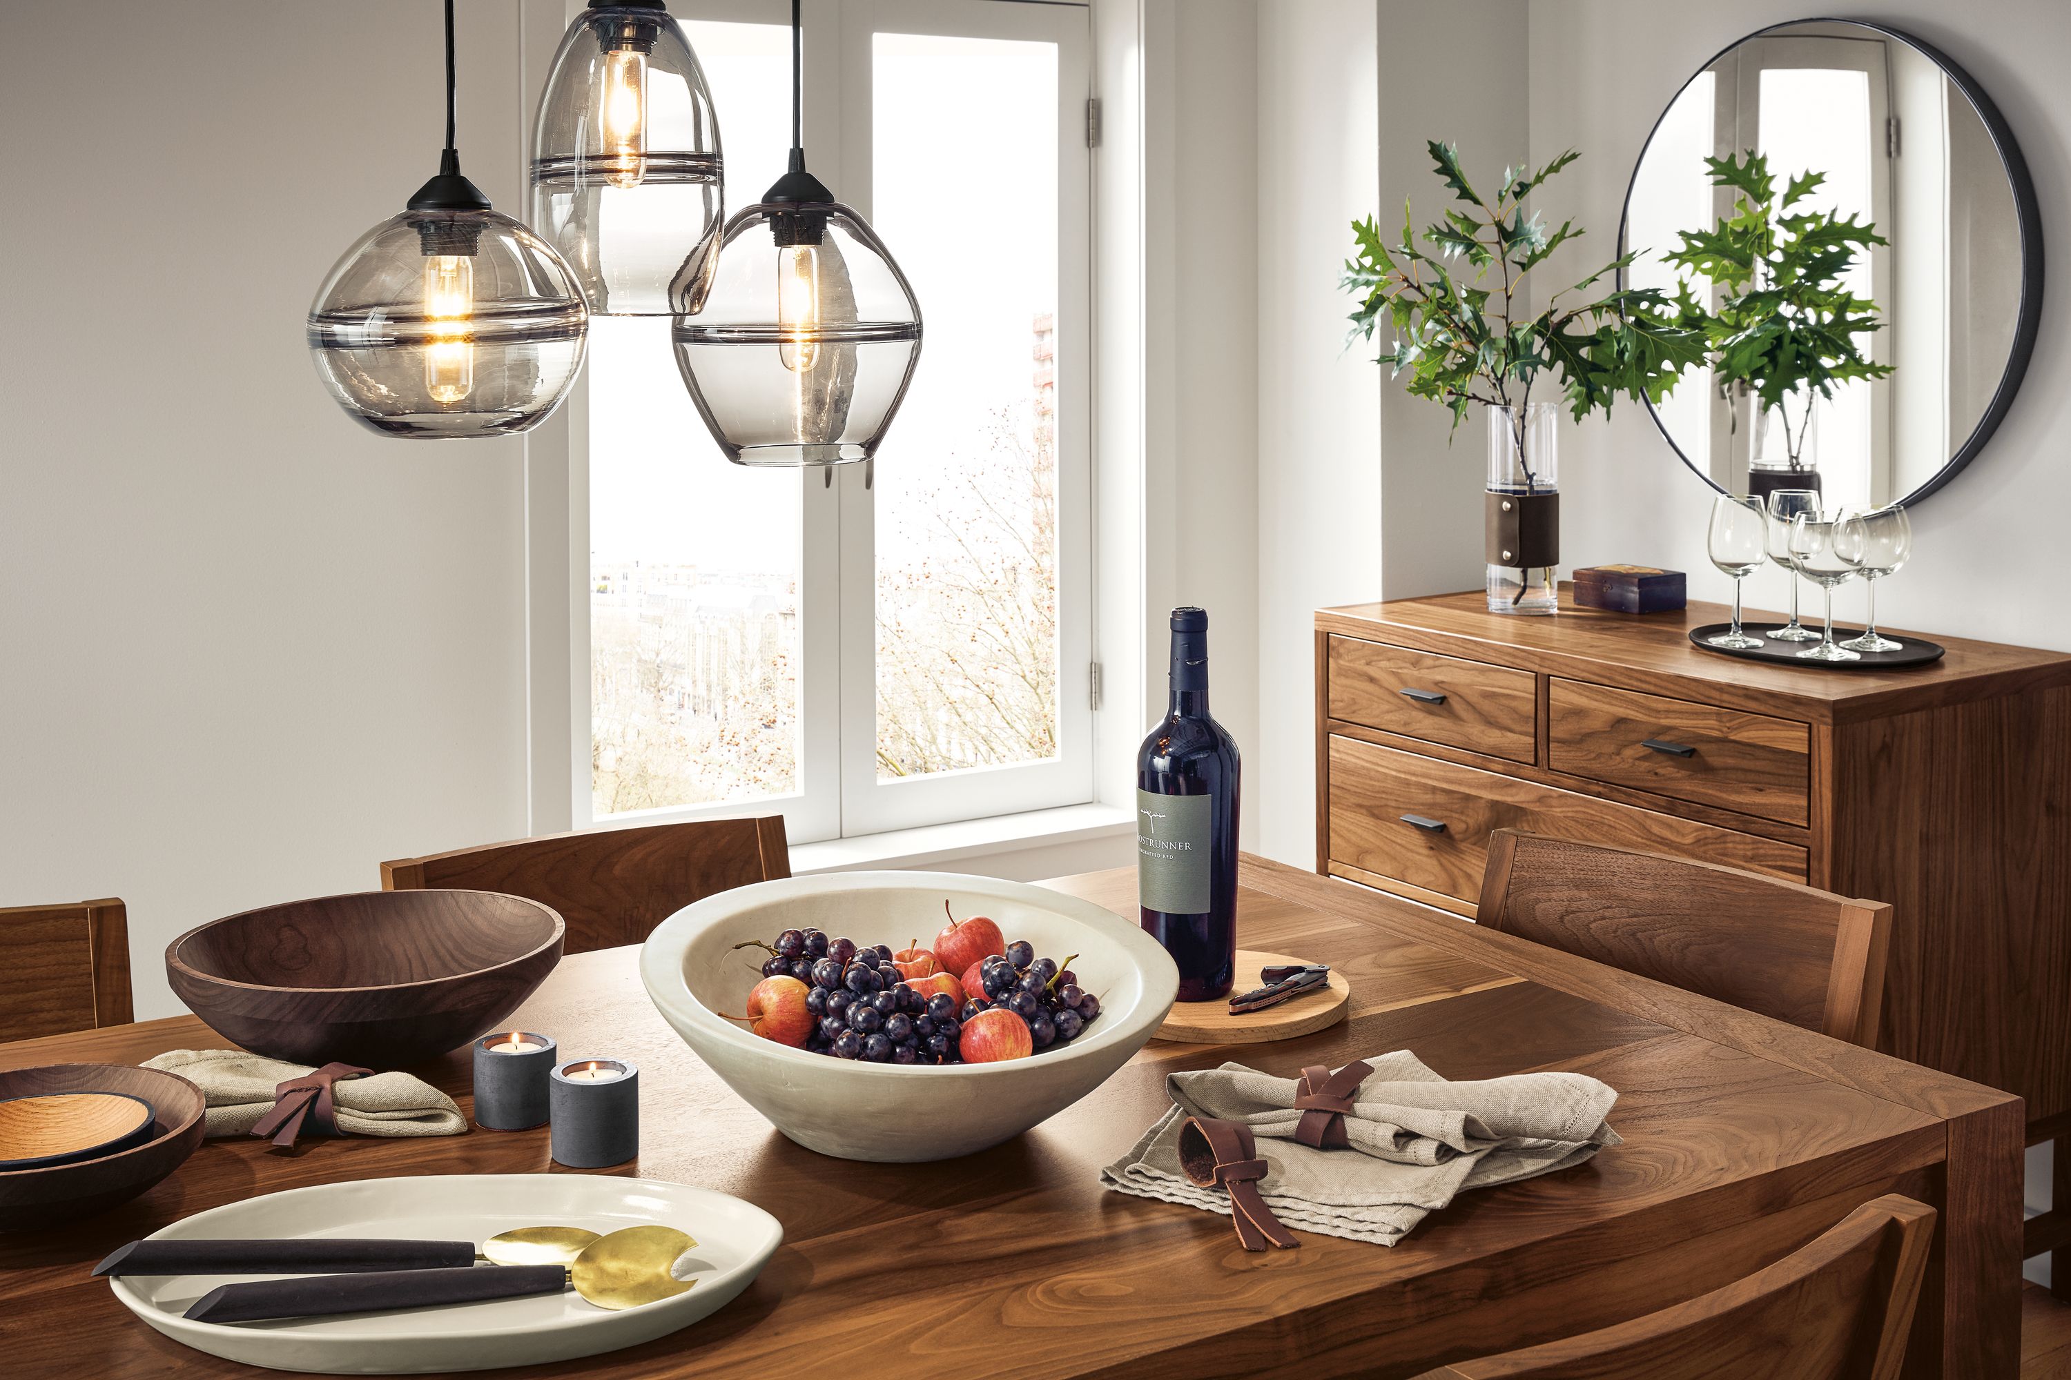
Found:
<path fill-rule="evenodd" d="M 1481 923 L 1876 1047 L 1891 906 L 1520 830 L 1489 836 Z"/>

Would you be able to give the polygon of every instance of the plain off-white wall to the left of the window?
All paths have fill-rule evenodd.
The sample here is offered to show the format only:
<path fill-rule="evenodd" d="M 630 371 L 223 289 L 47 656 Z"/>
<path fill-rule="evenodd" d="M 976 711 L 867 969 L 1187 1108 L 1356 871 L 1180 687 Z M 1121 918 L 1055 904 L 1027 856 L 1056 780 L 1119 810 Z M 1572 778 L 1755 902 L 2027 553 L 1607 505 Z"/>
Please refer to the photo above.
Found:
<path fill-rule="evenodd" d="M 122 896 L 162 1016 L 178 931 L 524 832 L 524 443 L 364 432 L 302 343 L 437 172 L 437 6 L 133 0 L 85 68 L 77 29 L 0 41 L 0 904 Z M 460 33 L 516 209 L 516 4 Z"/>

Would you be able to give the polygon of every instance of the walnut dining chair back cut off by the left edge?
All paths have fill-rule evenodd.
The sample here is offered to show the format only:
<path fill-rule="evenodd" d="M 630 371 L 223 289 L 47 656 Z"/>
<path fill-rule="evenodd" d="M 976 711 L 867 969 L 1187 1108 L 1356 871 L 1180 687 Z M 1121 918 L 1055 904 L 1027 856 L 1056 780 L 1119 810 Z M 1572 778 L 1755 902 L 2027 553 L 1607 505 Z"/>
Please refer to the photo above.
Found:
<path fill-rule="evenodd" d="M 0 1041 L 137 1020 L 120 900 L 0 910 Z"/>

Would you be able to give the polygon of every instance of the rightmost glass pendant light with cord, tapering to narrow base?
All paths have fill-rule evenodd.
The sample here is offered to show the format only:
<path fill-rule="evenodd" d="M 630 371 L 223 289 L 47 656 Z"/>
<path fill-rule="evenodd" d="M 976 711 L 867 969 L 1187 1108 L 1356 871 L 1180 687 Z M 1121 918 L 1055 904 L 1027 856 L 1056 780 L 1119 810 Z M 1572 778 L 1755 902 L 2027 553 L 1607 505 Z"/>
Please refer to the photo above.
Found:
<path fill-rule="evenodd" d="M 920 360 L 920 302 L 862 215 L 806 172 L 791 0 L 791 170 L 719 240 L 710 294 L 677 314 L 675 362 L 739 466 L 876 455 Z"/>

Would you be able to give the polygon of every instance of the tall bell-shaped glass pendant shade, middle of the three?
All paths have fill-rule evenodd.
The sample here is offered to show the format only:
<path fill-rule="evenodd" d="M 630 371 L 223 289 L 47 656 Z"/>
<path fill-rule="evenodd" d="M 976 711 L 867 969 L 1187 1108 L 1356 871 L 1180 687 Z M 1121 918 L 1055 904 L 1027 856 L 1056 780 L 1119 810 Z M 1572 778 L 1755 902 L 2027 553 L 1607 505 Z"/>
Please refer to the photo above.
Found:
<path fill-rule="evenodd" d="M 538 99 L 532 226 L 603 317 L 698 310 L 725 221 L 704 68 L 661 0 L 576 17 Z"/>

